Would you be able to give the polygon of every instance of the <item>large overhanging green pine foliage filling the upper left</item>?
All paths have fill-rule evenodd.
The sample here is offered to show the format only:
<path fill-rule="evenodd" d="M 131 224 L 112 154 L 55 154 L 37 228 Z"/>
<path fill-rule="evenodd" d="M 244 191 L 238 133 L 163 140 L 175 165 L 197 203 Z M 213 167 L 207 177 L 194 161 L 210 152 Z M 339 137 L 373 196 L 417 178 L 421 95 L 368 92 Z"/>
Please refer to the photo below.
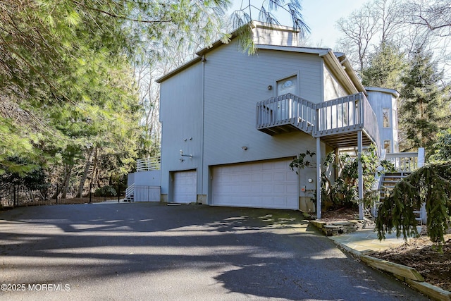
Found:
<path fill-rule="evenodd" d="M 208 40 L 220 26 L 214 16 L 227 6 L 228 1 L 1 2 L 0 147 L 9 151 L 0 154 L 0 161 L 11 154 L 42 157 L 42 144 L 44 149 L 73 144 L 74 131 L 83 135 L 89 130 L 90 126 L 80 125 L 88 116 L 104 120 L 106 127 L 117 109 L 115 97 L 136 99 L 132 70 L 125 82 L 113 70 L 130 66 L 143 51 L 143 41 L 154 41 L 155 50 L 180 32 Z M 4 99 L 11 106 L 4 106 Z M 11 113 L 4 113 L 9 107 L 16 115 L 25 112 L 25 118 L 18 123 Z M 128 112 L 116 116 L 124 113 Z M 56 128 L 63 118 L 73 123 L 70 128 Z"/>

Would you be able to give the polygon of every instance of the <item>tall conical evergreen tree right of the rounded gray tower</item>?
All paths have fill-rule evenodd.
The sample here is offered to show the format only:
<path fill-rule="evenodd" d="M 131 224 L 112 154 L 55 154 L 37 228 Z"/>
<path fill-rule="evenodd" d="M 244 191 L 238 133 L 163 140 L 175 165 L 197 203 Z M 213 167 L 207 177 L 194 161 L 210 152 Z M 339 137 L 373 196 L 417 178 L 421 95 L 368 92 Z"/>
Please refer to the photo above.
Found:
<path fill-rule="evenodd" d="M 425 147 L 428 155 L 435 135 L 450 127 L 450 87 L 443 86 L 443 73 L 438 72 L 432 54 L 421 47 L 402 77 L 400 91 L 400 130 L 407 138 L 401 149 Z"/>

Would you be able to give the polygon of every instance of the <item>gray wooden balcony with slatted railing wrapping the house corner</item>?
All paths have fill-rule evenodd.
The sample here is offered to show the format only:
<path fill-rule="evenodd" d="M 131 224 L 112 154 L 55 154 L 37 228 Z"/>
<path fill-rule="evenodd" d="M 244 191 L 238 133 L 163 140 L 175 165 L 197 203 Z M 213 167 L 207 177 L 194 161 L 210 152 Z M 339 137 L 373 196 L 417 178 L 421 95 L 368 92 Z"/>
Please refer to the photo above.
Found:
<path fill-rule="evenodd" d="M 266 99 L 257 103 L 257 130 L 268 135 L 301 130 L 333 147 L 357 145 L 362 130 L 363 145 L 380 145 L 376 114 L 363 93 L 319 104 L 294 94 Z"/>

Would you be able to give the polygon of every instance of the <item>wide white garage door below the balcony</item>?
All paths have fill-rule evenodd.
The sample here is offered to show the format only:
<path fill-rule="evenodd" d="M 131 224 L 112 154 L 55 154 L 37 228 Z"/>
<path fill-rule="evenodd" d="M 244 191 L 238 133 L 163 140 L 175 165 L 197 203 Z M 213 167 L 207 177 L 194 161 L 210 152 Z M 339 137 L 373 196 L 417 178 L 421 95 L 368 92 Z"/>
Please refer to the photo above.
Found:
<path fill-rule="evenodd" d="M 213 168 L 213 204 L 234 207 L 299 209 L 298 177 L 292 159 L 231 164 Z"/>

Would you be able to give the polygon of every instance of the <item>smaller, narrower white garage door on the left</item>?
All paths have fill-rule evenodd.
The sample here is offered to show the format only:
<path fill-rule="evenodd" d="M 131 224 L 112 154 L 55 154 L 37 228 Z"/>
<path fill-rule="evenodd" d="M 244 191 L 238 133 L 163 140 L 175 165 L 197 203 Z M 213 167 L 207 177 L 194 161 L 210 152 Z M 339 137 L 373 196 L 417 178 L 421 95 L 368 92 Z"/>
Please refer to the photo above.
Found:
<path fill-rule="evenodd" d="M 173 173 L 175 203 L 191 203 L 197 200 L 196 171 L 177 171 Z"/>

